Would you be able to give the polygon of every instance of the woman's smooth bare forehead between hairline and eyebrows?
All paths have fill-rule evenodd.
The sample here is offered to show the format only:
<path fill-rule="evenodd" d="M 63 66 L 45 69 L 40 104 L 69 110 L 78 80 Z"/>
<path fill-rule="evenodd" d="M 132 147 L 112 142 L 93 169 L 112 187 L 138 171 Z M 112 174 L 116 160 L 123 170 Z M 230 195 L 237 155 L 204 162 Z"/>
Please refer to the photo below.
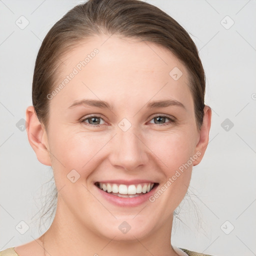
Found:
<path fill-rule="evenodd" d="M 54 102 L 65 98 L 70 105 L 85 97 L 128 104 L 165 96 L 192 103 L 186 68 L 170 50 L 152 42 L 97 35 L 62 56 L 62 61 L 54 86 L 64 86 Z"/>

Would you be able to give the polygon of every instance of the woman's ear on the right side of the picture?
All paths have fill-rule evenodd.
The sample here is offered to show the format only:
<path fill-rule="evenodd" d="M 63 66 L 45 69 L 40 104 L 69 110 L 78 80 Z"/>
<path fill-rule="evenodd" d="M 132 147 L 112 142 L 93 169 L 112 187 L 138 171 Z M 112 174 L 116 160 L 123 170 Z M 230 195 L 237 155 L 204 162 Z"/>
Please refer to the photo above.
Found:
<path fill-rule="evenodd" d="M 203 122 L 199 130 L 198 142 L 196 144 L 195 151 L 194 151 L 194 154 L 198 155 L 198 157 L 196 160 L 193 161 L 193 166 L 197 165 L 201 161 L 209 141 L 211 108 L 205 105 L 203 112 L 204 112 Z"/>

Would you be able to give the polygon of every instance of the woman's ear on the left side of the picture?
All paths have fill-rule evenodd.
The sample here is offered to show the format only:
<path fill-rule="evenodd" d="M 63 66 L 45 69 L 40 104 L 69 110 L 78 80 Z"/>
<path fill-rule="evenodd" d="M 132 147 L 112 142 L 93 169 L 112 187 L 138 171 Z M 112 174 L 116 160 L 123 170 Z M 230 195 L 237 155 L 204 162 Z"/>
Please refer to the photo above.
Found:
<path fill-rule="evenodd" d="M 26 132 L 29 144 L 39 162 L 51 166 L 48 139 L 44 126 L 39 122 L 33 106 L 26 108 Z"/>

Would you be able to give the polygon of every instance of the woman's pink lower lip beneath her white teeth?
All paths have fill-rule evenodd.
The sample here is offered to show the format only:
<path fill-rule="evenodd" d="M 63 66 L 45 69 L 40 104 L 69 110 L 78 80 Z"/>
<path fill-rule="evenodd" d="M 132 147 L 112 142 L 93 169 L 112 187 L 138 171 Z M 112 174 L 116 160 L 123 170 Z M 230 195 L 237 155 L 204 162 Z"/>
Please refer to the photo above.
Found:
<path fill-rule="evenodd" d="M 118 206 L 122 206 L 122 207 L 132 207 L 132 206 L 137 206 L 140 205 L 146 201 L 149 201 L 149 197 L 151 195 L 154 194 L 155 189 L 157 188 L 158 185 L 154 186 L 149 192 L 139 195 L 139 196 L 135 196 L 135 197 L 119 197 L 117 195 L 113 195 L 110 193 L 107 193 L 105 191 L 103 191 L 102 189 L 100 189 L 99 187 L 97 187 L 95 185 L 95 187 L 97 188 L 98 192 L 104 197 L 104 199 L 106 199 L 107 201 L 118 205 Z"/>

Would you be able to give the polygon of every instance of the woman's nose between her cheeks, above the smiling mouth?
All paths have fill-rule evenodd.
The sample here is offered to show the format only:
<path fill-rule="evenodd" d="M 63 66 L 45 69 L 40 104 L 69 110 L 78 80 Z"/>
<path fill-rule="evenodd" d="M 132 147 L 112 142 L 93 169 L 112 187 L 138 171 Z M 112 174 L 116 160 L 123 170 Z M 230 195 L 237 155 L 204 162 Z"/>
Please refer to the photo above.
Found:
<path fill-rule="evenodd" d="M 148 162 L 148 148 L 133 128 L 119 130 L 111 140 L 109 161 L 116 168 L 136 170 Z"/>

